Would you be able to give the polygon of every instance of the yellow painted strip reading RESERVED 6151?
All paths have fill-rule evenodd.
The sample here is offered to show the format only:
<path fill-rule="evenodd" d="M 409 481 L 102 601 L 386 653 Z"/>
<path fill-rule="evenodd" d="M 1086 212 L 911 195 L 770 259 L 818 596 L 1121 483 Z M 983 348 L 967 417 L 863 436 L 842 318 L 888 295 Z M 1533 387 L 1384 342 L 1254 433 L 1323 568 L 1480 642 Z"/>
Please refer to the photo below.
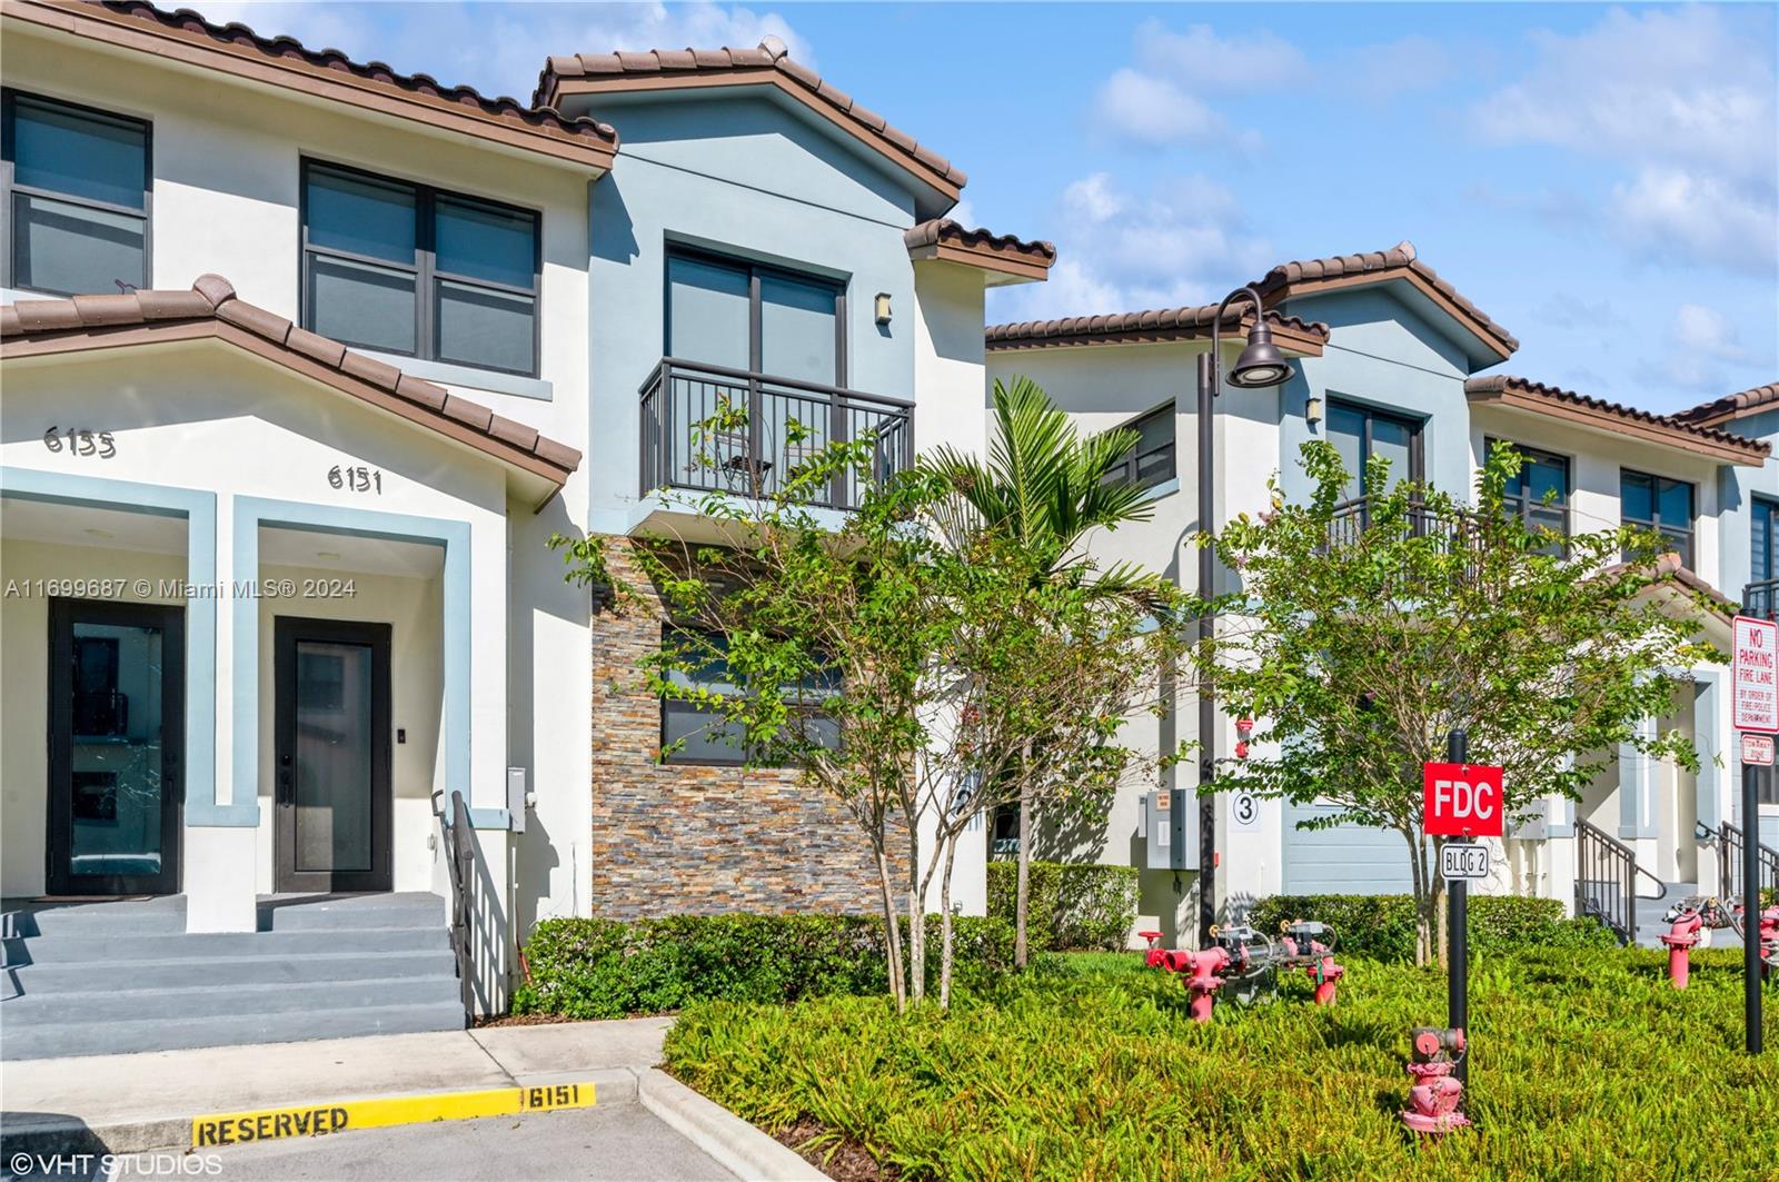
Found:
<path fill-rule="evenodd" d="M 340 1100 L 299 1107 L 260 1109 L 254 1113 L 213 1113 L 192 1118 L 192 1148 L 276 1141 L 279 1137 L 318 1137 L 349 1129 L 386 1129 L 423 1125 L 436 1120 L 473 1120 L 477 1116 L 514 1116 L 550 1109 L 592 1107 L 592 1081 L 551 1084 L 548 1088 L 493 1088 L 489 1091 L 436 1091 L 422 1097 L 384 1097 L 377 1100 Z"/>

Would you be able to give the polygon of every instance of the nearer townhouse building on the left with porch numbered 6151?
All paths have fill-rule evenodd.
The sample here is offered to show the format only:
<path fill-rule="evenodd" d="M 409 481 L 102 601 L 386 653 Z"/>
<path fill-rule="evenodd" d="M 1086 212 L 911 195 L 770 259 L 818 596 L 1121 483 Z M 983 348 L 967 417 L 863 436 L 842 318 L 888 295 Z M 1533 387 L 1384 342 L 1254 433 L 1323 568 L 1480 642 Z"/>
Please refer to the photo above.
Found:
<path fill-rule="evenodd" d="M 550 539 L 635 575 L 792 418 L 980 447 L 1048 244 L 772 39 L 516 101 L 135 0 L 0 36 L 0 1052 L 459 1025 L 544 917 L 875 906 Z"/>

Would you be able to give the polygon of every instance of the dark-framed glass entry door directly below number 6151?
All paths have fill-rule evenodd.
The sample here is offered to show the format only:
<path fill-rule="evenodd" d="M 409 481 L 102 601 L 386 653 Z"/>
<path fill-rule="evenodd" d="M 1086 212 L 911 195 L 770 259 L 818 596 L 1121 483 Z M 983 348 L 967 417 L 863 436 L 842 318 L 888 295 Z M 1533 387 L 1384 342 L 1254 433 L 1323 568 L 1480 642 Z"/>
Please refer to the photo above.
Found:
<path fill-rule="evenodd" d="M 279 616 L 278 890 L 390 890 L 390 625 Z"/>

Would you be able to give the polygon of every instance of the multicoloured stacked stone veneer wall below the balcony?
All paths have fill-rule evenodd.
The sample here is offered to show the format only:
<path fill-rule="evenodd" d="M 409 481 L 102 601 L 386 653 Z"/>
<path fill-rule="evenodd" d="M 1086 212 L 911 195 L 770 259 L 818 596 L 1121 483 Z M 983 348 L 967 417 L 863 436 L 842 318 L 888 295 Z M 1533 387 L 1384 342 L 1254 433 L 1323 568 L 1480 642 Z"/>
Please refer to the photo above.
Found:
<path fill-rule="evenodd" d="M 850 814 L 793 771 L 656 762 L 660 700 L 637 662 L 660 650 L 658 600 L 628 541 L 610 541 L 614 577 L 649 602 L 592 614 L 592 913 L 877 913 L 877 870 Z"/>

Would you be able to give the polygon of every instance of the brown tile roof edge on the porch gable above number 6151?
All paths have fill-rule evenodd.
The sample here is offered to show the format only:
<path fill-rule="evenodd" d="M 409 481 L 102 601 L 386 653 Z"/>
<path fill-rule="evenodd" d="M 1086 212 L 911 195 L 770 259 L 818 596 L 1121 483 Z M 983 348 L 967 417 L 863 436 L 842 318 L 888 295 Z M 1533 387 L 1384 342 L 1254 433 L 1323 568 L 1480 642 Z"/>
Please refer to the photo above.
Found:
<path fill-rule="evenodd" d="M 265 308 L 256 308 L 235 296 L 235 287 L 222 276 L 201 276 L 189 292 L 144 290 L 125 296 L 75 296 L 73 299 L 21 299 L 0 308 L 0 356 L 27 356 L 52 352 L 37 345 L 59 340 L 82 340 L 91 329 L 105 329 L 91 336 L 98 344 L 135 344 L 135 336 L 121 336 L 132 326 L 144 344 L 160 333 L 180 331 L 190 336 L 187 326 L 228 324 L 254 340 L 265 342 L 263 352 L 315 376 L 318 365 L 340 381 L 329 381 L 347 393 L 390 408 L 386 395 L 395 393 L 416 409 L 406 417 L 461 438 L 500 459 L 543 475 L 557 488 L 580 466 L 580 452 L 566 443 L 544 438 L 537 431 L 505 418 L 470 399 L 448 393 L 445 386 L 404 374 L 327 336 L 294 328 L 290 320 Z M 240 340 L 238 336 L 235 338 Z M 381 401 L 379 401 L 381 399 Z M 400 406 L 400 404 L 395 404 Z M 461 424 L 461 427 L 459 427 Z M 468 438 L 463 427 L 470 427 Z"/>

